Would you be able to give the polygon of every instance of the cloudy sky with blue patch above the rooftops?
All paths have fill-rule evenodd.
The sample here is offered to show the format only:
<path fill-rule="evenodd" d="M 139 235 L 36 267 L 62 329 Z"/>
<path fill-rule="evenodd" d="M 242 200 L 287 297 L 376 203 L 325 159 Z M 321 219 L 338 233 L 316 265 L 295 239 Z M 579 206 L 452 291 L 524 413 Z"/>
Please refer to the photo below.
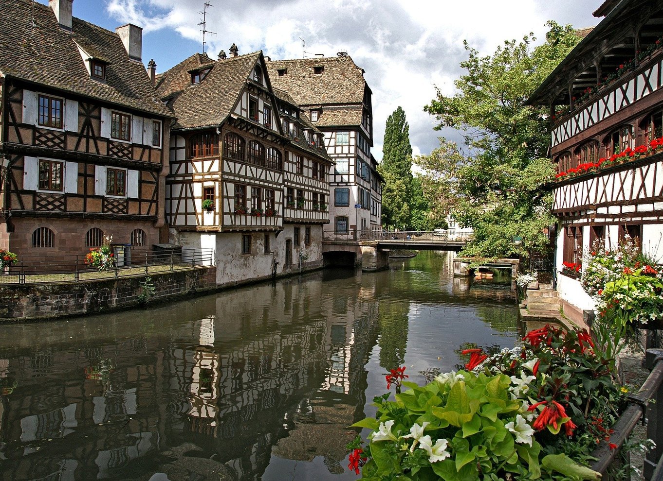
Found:
<path fill-rule="evenodd" d="M 414 155 L 430 153 L 441 135 L 460 140 L 453 130 L 434 130 L 423 109 L 436 88 L 453 95 L 467 58 L 463 40 L 484 55 L 529 32 L 540 43 L 548 20 L 596 25 L 591 13 L 603 0 L 74 0 L 74 17 L 109 30 L 142 26 L 143 62 L 153 58 L 162 72 L 202 52 L 206 2 L 206 29 L 215 33 L 205 48 L 213 59 L 233 42 L 240 54 L 263 50 L 274 60 L 347 52 L 373 91 L 372 152 L 380 160 L 385 122 L 399 106 Z"/>

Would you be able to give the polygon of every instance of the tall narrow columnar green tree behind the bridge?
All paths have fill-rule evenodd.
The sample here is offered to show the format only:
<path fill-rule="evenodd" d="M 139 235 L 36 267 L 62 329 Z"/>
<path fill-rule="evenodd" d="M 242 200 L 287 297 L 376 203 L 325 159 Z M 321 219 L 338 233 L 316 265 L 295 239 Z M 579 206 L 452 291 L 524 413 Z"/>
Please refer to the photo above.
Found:
<path fill-rule="evenodd" d="M 385 179 L 382 191 L 383 225 L 411 228 L 412 146 L 410 126 L 401 107 L 387 118 L 379 171 Z"/>

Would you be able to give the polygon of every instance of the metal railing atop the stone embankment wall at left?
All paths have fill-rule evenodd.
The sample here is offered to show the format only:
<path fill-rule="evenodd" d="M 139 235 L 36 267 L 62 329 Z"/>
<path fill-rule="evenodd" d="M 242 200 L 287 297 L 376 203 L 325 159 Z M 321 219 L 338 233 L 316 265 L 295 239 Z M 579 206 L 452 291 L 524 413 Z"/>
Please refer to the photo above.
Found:
<path fill-rule="evenodd" d="M 99 271 L 85 263 L 86 256 L 58 255 L 54 259 L 23 257 L 0 275 L 1 284 L 78 283 L 118 277 L 159 274 L 215 265 L 214 249 L 182 249 L 131 254 Z"/>

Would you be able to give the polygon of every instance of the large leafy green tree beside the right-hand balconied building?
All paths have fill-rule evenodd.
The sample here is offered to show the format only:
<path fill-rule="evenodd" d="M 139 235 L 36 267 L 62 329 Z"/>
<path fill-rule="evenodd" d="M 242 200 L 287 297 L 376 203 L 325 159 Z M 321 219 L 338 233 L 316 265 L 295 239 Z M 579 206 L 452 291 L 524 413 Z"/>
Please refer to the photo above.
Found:
<path fill-rule="evenodd" d="M 426 171 L 422 184 L 432 208 L 451 210 L 459 224 L 474 229 L 465 255 L 526 256 L 549 243 L 552 194 L 542 189 L 555 172 L 546 158 L 549 112 L 526 101 L 578 37 L 570 25 L 548 26 L 546 42 L 536 48 L 532 34 L 485 57 L 465 42 L 467 73 L 455 82 L 457 93 L 446 97 L 438 89 L 424 107 L 438 129 L 463 132 L 463 152 L 441 138 L 440 148 L 416 163 Z"/>

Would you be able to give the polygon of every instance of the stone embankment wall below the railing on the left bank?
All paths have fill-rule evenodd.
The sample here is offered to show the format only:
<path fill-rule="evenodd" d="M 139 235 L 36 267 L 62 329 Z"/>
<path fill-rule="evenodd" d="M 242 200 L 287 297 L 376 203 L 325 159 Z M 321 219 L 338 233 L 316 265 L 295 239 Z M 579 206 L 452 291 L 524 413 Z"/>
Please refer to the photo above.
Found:
<path fill-rule="evenodd" d="M 152 274 L 154 295 L 160 302 L 211 292 L 217 288 L 216 267 Z M 0 320 L 44 319 L 129 308 L 139 304 L 145 277 L 62 284 L 11 284 L 0 286 Z"/>

